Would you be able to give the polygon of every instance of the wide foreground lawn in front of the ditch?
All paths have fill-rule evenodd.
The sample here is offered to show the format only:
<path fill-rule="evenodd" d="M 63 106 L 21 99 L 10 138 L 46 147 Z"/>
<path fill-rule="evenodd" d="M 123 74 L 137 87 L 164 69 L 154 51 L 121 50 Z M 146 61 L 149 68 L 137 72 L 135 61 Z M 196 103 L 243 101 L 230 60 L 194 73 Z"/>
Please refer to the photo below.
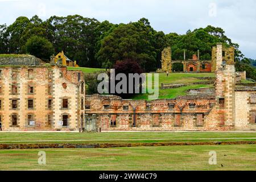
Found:
<path fill-rule="evenodd" d="M 0 150 L 0 170 L 255 170 L 256 145 Z M 209 165 L 209 152 L 217 165 Z"/>

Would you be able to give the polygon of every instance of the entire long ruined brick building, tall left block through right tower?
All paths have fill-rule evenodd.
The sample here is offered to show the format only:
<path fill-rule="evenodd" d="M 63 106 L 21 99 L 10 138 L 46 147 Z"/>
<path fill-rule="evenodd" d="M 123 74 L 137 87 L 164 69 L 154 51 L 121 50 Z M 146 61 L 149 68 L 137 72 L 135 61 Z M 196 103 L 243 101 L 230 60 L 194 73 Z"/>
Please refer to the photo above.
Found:
<path fill-rule="evenodd" d="M 98 94 L 85 96 L 83 73 L 68 71 L 64 65 L 56 64 L 54 57 L 51 64 L 45 64 L 34 56 L 0 55 L 2 129 L 255 130 L 256 88 L 236 85 L 234 49 L 217 44 L 212 59 L 210 71 L 216 73 L 212 94 L 136 101 Z M 191 63 L 183 64 L 187 69 Z"/>

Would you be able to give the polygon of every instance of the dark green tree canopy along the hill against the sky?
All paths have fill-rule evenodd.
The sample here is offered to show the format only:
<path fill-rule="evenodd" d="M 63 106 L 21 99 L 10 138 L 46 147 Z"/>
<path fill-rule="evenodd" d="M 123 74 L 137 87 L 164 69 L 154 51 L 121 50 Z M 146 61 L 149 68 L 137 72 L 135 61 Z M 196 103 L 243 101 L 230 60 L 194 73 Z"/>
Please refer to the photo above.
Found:
<path fill-rule="evenodd" d="M 220 27 L 188 30 L 184 35 L 164 34 L 154 30 L 146 18 L 113 24 L 80 15 L 51 16 L 45 21 L 36 15 L 31 19 L 20 16 L 9 26 L 2 24 L 0 53 L 26 53 L 26 44 L 34 36 L 48 40 L 55 54 L 64 51 L 81 67 L 113 68 L 117 61 L 131 60 L 136 61 L 144 72 L 151 72 L 160 68 L 164 47 L 172 47 L 172 59 L 183 59 L 184 49 L 187 57 L 192 57 L 199 49 L 201 59 L 211 59 L 212 46 L 217 42 L 235 47 L 236 61 L 245 64 L 239 45 L 233 43 Z M 249 66 L 254 64 L 251 61 Z"/>

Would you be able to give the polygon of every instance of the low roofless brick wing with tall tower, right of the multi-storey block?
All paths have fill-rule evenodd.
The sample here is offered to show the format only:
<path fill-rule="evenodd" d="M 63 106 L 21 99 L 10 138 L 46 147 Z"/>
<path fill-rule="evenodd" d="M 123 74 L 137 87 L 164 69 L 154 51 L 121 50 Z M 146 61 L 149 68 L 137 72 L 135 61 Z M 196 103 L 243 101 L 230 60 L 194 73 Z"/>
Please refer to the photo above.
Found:
<path fill-rule="evenodd" d="M 170 57 L 170 52 L 166 56 Z M 234 48 L 217 44 L 213 47 L 213 60 L 210 71 L 216 72 L 214 93 L 153 101 L 86 96 L 85 130 L 255 130 L 256 88 L 236 86 Z M 184 61 L 183 64 L 187 69 L 194 63 Z"/>

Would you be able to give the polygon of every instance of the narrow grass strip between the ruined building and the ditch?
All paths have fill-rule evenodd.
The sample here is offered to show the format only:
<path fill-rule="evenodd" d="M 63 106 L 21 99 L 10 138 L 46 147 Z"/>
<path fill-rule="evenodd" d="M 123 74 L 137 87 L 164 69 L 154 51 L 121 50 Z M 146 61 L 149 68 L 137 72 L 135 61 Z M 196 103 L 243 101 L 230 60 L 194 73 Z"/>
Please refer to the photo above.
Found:
<path fill-rule="evenodd" d="M 256 133 L 0 133 L 0 143 L 151 143 L 255 141 Z"/>

